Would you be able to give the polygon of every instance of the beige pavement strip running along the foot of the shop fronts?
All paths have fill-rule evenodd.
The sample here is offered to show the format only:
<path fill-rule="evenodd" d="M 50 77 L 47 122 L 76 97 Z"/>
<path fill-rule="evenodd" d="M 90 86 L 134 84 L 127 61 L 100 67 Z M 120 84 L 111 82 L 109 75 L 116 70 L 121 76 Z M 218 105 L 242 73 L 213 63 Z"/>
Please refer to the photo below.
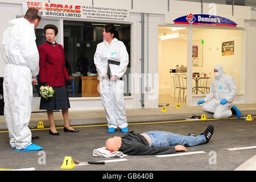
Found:
<path fill-rule="evenodd" d="M 242 104 L 236 105 L 242 113 L 242 117 L 248 114 L 256 116 L 256 104 Z M 159 122 L 159 121 L 175 121 L 184 120 L 189 115 L 203 115 L 205 114 L 208 119 L 213 119 L 213 114 L 205 113 L 201 106 L 187 107 L 180 105 L 180 109 L 176 106 L 167 106 L 166 112 L 162 112 L 162 107 L 157 109 L 126 109 L 126 117 L 128 123 L 133 122 Z M 61 111 L 55 111 L 53 114 L 55 119 L 55 126 L 63 127 L 63 116 Z M 30 127 L 35 128 L 38 122 L 43 121 L 45 127 L 49 127 L 47 113 L 38 112 L 31 113 Z M 69 123 L 71 126 L 75 125 L 90 125 L 97 123 L 106 124 L 105 110 L 90 110 L 90 111 L 69 111 Z M 0 115 L 0 130 L 5 130 L 5 116 Z"/>

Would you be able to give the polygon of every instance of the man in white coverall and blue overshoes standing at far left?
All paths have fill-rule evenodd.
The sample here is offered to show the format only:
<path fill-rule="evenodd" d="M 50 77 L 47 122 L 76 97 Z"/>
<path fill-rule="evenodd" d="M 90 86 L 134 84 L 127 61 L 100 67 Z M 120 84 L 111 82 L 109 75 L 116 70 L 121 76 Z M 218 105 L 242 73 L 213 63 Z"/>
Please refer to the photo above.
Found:
<path fill-rule="evenodd" d="M 11 148 L 16 148 L 15 151 L 42 149 L 31 143 L 31 131 L 28 128 L 32 84 L 37 83 L 34 77 L 39 72 L 35 28 L 40 20 L 38 10 L 28 9 L 24 18 L 10 20 L 10 26 L 3 33 L 1 51 L 7 64 L 3 79 L 4 113 L 10 145 Z"/>

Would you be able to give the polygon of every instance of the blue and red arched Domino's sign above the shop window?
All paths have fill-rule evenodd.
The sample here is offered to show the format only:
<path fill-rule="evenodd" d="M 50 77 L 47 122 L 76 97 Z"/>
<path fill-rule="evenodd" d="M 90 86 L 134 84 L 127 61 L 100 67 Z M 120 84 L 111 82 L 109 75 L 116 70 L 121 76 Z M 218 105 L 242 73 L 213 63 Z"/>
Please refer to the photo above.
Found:
<path fill-rule="evenodd" d="M 224 27 L 236 27 L 237 23 L 228 18 L 207 14 L 189 14 L 181 16 L 174 20 L 175 24 L 196 24 L 201 26 L 224 26 Z"/>

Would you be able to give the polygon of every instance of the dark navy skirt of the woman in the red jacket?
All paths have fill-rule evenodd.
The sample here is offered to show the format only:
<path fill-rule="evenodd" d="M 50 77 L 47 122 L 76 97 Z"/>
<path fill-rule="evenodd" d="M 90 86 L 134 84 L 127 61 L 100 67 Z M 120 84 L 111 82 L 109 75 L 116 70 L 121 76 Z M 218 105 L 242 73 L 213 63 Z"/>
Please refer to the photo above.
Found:
<path fill-rule="evenodd" d="M 65 86 L 52 87 L 55 92 L 53 97 L 47 99 L 41 97 L 40 107 L 42 110 L 60 110 L 70 108 L 67 89 Z"/>

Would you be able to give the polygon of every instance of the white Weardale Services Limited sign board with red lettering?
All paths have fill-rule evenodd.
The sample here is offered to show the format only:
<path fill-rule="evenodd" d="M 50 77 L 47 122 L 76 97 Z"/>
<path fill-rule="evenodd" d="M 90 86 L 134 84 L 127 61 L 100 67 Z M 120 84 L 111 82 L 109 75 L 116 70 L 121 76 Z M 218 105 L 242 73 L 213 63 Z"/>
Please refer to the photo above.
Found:
<path fill-rule="evenodd" d="M 130 11 L 116 7 L 96 7 L 87 5 L 65 5 L 61 3 L 26 2 L 23 3 L 23 14 L 34 7 L 42 17 L 79 18 L 93 20 L 110 20 L 129 22 Z"/>

